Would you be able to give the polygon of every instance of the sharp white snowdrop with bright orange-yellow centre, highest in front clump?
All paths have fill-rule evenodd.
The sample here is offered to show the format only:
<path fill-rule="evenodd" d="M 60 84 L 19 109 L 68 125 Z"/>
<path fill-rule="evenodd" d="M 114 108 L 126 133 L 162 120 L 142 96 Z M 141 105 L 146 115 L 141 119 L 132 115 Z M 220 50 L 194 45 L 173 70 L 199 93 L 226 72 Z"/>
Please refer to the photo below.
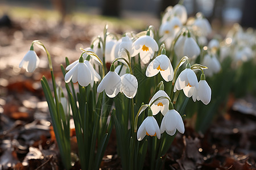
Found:
<path fill-rule="evenodd" d="M 158 44 L 151 36 L 141 36 L 133 42 L 134 52 L 131 57 L 140 54 L 141 61 L 146 64 L 154 56 L 154 53 L 158 51 Z"/>

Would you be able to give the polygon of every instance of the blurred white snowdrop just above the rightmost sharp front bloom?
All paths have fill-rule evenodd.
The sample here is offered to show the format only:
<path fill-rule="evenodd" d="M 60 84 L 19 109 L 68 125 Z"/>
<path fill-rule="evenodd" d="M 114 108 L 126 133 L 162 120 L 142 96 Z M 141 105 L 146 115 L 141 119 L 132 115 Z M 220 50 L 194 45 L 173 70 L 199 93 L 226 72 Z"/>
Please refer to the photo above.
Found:
<path fill-rule="evenodd" d="M 218 62 L 218 59 L 215 55 L 205 55 L 203 59 L 203 65 L 208 67 L 208 69 L 204 72 L 205 75 L 208 76 L 212 76 L 214 73 L 218 73 L 221 70 L 220 62 Z"/>

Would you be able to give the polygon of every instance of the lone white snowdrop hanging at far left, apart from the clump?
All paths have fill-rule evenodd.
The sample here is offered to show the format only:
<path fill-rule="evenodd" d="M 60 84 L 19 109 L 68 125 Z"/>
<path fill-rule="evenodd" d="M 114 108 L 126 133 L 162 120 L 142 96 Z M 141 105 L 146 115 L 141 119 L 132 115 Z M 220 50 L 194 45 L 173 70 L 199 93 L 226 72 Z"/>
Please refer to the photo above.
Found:
<path fill-rule="evenodd" d="M 19 67 L 23 67 L 27 72 L 32 73 L 39 65 L 39 57 L 34 50 L 29 50 L 19 63 Z"/>

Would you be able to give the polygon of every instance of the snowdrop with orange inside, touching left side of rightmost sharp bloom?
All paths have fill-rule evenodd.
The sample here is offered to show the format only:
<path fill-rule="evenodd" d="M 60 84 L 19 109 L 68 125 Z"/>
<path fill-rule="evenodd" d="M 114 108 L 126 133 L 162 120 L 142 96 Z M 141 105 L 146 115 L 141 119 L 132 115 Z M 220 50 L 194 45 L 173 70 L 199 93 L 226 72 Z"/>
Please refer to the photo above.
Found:
<path fill-rule="evenodd" d="M 190 69 L 190 64 L 187 63 L 186 69 L 181 71 L 180 75 L 177 77 L 174 92 L 183 90 L 185 96 L 191 97 L 195 88 L 198 89 L 196 74 Z"/>

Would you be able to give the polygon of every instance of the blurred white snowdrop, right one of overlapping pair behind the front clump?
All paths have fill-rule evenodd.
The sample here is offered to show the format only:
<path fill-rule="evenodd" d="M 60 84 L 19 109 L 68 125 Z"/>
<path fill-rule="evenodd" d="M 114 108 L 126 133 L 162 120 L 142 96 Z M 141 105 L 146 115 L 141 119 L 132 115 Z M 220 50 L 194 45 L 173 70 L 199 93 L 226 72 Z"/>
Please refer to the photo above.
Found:
<path fill-rule="evenodd" d="M 196 41 L 192 37 L 187 37 L 187 39 L 185 39 L 184 41 L 183 56 L 187 56 L 189 58 L 195 58 L 199 56 L 199 54 L 200 54 L 199 45 L 197 45 Z"/>

